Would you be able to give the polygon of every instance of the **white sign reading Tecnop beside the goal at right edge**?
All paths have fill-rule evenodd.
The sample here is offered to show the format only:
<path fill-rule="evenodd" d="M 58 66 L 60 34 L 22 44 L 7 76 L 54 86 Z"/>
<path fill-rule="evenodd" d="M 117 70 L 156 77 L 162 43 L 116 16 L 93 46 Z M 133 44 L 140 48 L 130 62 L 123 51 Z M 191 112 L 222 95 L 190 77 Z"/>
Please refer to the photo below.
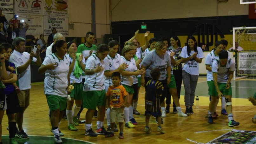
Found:
<path fill-rule="evenodd" d="M 238 70 L 256 70 L 256 52 L 239 52 Z"/>

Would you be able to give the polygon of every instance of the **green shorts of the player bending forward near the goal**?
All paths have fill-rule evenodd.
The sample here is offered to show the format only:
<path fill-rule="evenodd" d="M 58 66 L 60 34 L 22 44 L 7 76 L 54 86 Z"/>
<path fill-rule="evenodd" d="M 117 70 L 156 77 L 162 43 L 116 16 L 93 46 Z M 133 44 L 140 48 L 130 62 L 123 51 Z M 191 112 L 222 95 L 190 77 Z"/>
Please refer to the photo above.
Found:
<path fill-rule="evenodd" d="M 209 87 L 209 92 L 208 95 L 218 97 L 218 92 L 214 86 L 213 81 L 208 81 L 207 82 L 208 87 Z M 225 96 L 225 95 L 231 95 L 232 96 L 232 88 L 231 88 L 231 83 L 229 84 L 229 88 L 226 89 L 226 83 L 220 83 L 218 82 L 218 86 L 220 89 L 220 92 Z"/>

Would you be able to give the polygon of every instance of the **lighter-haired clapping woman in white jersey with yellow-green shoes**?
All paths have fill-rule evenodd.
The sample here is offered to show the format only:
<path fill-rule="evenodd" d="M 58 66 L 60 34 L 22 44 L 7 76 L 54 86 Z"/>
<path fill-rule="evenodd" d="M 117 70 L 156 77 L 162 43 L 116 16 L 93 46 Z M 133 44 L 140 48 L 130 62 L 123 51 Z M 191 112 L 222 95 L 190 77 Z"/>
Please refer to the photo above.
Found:
<path fill-rule="evenodd" d="M 133 115 L 133 107 L 132 107 L 132 99 L 134 94 L 133 76 L 144 74 L 143 70 L 138 70 L 136 67 L 136 62 L 133 58 L 134 52 L 135 52 L 134 47 L 130 45 L 126 45 L 122 49 L 122 56 L 121 56 L 121 63 L 125 63 L 128 65 L 128 67 L 121 74 L 121 84 L 123 85 L 123 87 L 126 89 L 128 93 L 127 106 L 124 108 L 125 126 L 128 128 L 135 127 L 129 119 L 129 115 Z"/>

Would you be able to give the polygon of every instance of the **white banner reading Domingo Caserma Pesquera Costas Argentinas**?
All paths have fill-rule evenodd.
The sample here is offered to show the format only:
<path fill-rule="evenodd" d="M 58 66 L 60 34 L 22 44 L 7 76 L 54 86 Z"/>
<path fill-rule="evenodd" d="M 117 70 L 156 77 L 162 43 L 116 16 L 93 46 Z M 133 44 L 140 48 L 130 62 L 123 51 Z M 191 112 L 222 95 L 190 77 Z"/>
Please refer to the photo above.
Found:
<path fill-rule="evenodd" d="M 67 17 L 43 16 L 43 34 L 48 36 L 52 29 L 56 28 L 57 33 L 69 36 L 69 19 Z"/>

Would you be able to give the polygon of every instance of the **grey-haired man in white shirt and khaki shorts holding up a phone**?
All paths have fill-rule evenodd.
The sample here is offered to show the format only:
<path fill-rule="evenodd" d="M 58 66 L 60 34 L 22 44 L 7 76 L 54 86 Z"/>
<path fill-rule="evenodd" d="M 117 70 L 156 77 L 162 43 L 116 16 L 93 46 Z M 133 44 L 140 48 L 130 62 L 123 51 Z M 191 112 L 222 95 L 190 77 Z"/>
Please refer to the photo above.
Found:
<path fill-rule="evenodd" d="M 19 128 L 17 137 L 21 139 L 29 139 L 29 136 L 23 130 L 22 124 L 23 114 L 25 109 L 28 108 L 30 100 L 30 63 L 34 63 L 35 65 L 39 66 L 42 64 L 42 60 L 40 58 L 40 49 L 37 49 L 36 54 L 33 51 L 30 54 L 25 52 L 26 47 L 24 38 L 15 37 L 13 39 L 12 45 L 14 47 L 14 51 L 10 56 L 10 61 L 16 65 L 18 72 L 18 83 L 21 90 L 21 92 L 17 94 L 20 104 L 19 113 L 16 113 L 16 121 Z M 36 56 L 36 58 L 34 56 Z"/>

